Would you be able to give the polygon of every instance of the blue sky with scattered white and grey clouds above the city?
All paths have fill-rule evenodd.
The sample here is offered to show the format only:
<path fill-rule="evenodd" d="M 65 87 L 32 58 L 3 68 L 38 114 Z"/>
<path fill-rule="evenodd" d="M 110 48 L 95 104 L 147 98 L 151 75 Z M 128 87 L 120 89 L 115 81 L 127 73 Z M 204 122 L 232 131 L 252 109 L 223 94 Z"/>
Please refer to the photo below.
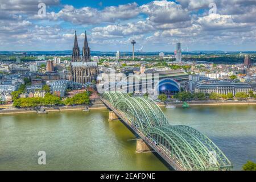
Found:
<path fill-rule="evenodd" d="M 256 0 L 0 0 L 0 51 L 256 51 L 255 22 Z"/>

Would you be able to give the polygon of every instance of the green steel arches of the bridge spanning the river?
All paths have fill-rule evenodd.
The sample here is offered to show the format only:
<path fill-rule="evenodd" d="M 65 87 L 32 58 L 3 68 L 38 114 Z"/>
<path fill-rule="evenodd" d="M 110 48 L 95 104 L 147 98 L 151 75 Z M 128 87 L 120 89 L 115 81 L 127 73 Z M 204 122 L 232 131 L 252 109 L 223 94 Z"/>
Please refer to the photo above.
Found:
<path fill-rule="evenodd" d="M 207 136 L 189 126 L 172 126 L 160 107 L 144 97 L 106 92 L 102 99 L 146 140 L 184 170 L 229 170 L 232 164 Z M 214 158 L 213 158 L 213 153 Z"/>

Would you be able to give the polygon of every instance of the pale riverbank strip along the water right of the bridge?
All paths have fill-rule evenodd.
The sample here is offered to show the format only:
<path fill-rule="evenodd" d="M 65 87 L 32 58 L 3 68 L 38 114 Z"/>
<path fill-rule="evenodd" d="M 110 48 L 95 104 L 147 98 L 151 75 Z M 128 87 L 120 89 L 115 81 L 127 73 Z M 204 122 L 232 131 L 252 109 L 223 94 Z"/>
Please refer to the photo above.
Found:
<path fill-rule="evenodd" d="M 187 102 L 189 106 L 214 106 L 214 105 L 256 105 L 256 100 L 246 100 L 246 101 L 189 101 Z M 167 105 L 182 106 L 183 102 L 166 102 Z M 159 106 L 166 106 L 164 102 L 158 102 Z"/>

